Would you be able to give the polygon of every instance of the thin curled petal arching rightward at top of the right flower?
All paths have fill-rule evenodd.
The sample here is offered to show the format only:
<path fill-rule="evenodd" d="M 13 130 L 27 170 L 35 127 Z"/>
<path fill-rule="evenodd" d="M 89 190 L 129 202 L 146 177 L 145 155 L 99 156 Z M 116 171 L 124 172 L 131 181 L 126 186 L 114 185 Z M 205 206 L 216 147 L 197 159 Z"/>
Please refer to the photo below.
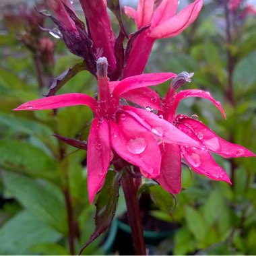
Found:
<path fill-rule="evenodd" d="M 214 103 L 214 105 L 220 110 L 223 117 L 226 119 L 226 115 L 224 113 L 224 110 L 220 102 L 214 100 L 210 92 L 205 92 L 203 90 L 198 90 L 198 89 L 183 90 L 181 92 L 178 92 L 176 95 L 172 97 L 173 98 L 166 99 L 166 104 L 170 104 L 168 108 L 168 120 L 174 119 L 179 102 L 181 100 L 184 100 L 185 98 L 190 98 L 190 97 L 206 98 L 207 100 L 212 101 L 212 103 Z"/>

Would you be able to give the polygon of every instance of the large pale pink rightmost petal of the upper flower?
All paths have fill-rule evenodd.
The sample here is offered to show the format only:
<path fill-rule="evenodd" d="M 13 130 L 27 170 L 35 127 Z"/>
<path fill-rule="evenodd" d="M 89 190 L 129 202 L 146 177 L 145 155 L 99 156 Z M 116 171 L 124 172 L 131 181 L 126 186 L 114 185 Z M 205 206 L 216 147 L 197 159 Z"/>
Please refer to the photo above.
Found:
<path fill-rule="evenodd" d="M 202 6 L 203 0 L 194 1 L 177 15 L 156 26 L 150 33 L 150 37 L 170 38 L 181 34 L 185 28 L 195 21 Z"/>

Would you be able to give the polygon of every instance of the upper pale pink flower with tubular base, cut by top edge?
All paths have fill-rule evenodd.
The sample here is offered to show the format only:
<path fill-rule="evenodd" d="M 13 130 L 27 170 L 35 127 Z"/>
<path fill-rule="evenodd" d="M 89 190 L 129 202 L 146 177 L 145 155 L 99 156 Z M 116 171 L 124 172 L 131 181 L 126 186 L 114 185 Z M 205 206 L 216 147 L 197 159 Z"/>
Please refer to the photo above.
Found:
<path fill-rule="evenodd" d="M 124 77 L 142 73 L 154 41 L 181 34 L 197 18 L 203 0 L 195 0 L 175 15 L 178 3 L 178 0 L 162 0 L 160 5 L 154 8 L 154 0 L 139 0 L 137 11 L 125 7 L 125 13 L 135 20 L 138 30 L 146 26 L 150 27 L 135 38 L 127 59 Z"/>

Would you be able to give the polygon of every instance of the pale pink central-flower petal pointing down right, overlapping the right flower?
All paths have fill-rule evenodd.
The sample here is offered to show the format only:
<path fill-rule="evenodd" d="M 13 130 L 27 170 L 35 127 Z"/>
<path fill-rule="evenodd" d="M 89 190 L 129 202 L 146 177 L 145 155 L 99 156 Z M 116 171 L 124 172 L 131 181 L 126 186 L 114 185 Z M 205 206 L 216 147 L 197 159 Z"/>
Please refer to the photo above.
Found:
<path fill-rule="evenodd" d="M 142 121 L 141 125 L 146 123 L 146 129 L 149 129 L 158 141 L 201 148 L 198 141 L 195 141 L 168 121 L 158 117 L 158 115 L 141 108 L 133 108 L 132 106 L 123 106 L 123 109 L 133 115 L 138 122 Z"/>

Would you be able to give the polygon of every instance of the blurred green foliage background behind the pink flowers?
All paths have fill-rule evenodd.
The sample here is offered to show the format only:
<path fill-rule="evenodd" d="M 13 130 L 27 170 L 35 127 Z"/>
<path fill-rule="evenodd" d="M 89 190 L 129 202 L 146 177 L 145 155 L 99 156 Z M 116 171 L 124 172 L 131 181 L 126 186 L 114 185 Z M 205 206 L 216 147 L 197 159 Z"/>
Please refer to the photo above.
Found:
<path fill-rule="evenodd" d="M 96 207 L 89 204 L 87 194 L 86 151 L 67 146 L 51 135 L 87 140 L 92 113 L 86 106 L 12 112 L 23 102 L 41 97 L 47 89 L 38 86 L 33 53 L 1 23 L 0 254 L 67 255 L 71 253 L 70 239 L 77 253 L 95 228 L 92 220 Z M 125 24 L 129 21 L 125 20 Z M 233 20 L 232 40 L 228 42 L 224 7 L 218 1 L 207 1 L 199 19 L 183 34 L 156 42 L 146 67 L 146 72 L 195 72 L 193 82 L 185 88 L 210 91 L 222 102 L 227 119 L 223 120 L 211 103 L 199 99 L 184 100 L 179 112 L 197 114 L 218 135 L 253 152 L 255 25 L 253 16 Z M 54 42 L 55 65 L 51 74 L 46 73 L 46 81 L 81 61 L 67 53 L 61 41 Z M 230 61 L 232 71 L 228 70 Z M 82 71 L 59 93 L 84 92 L 93 96 L 95 85 L 94 77 Z M 163 96 L 167 88 L 168 84 L 164 84 L 157 90 Z M 158 207 L 152 210 L 152 216 L 179 224 L 174 238 L 167 238 L 159 246 L 159 254 L 256 254 L 255 159 L 216 156 L 216 161 L 230 174 L 232 187 L 199 177 L 184 167 L 184 190 L 175 200 L 151 181 L 141 188 L 151 194 Z M 123 203 L 121 197 L 118 213 L 123 212 Z M 103 243 L 100 236 L 84 254 L 106 253 Z"/>

